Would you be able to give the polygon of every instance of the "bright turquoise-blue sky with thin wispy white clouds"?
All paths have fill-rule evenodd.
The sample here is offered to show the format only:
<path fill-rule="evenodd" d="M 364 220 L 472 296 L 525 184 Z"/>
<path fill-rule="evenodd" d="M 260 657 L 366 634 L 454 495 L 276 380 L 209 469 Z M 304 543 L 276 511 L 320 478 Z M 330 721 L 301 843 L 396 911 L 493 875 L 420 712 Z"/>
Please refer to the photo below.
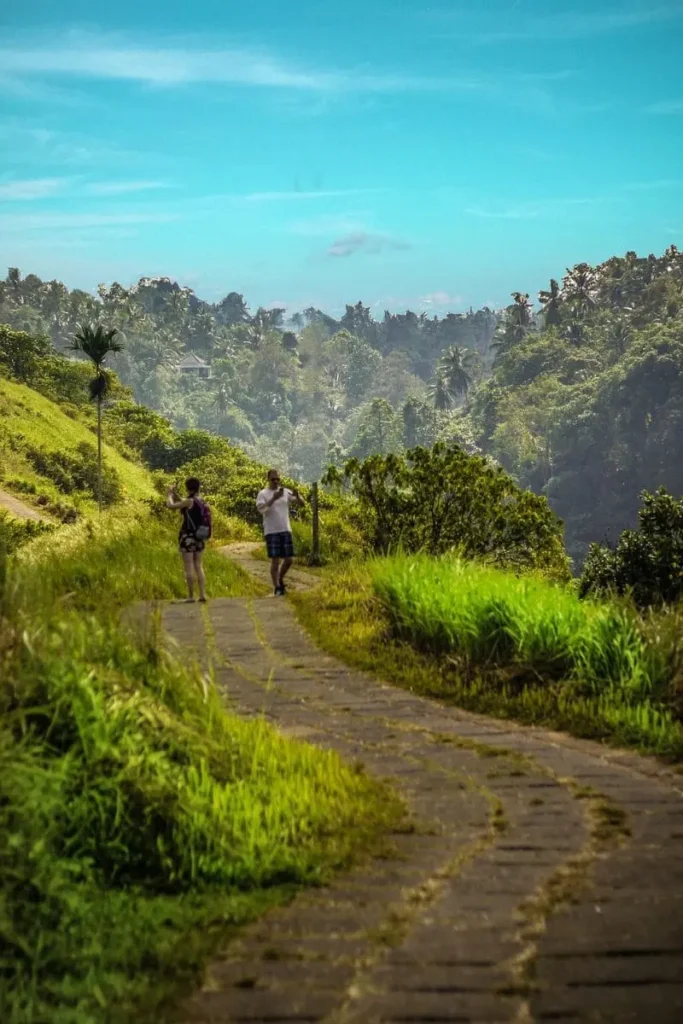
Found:
<path fill-rule="evenodd" d="M 441 313 L 683 247 L 683 0 L 26 0 L 0 28 L 0 268 Z"/>

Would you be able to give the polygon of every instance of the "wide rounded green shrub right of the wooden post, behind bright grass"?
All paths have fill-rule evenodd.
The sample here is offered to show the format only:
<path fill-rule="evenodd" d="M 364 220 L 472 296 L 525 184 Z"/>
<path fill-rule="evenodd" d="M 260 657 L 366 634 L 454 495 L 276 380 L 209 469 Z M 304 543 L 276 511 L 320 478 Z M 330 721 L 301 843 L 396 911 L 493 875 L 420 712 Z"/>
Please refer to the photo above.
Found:
<path fill-rule="evenodd" d="M 498 565 L 569 577 L 562 527 L 545 498 L 521 490 L 479 456 L 437 443 L 405 456 L 350 460 L 343 476 L 360 506 L 367 544 L 376 552 L 402 549 L 431 555 L 458 550 Z"/>

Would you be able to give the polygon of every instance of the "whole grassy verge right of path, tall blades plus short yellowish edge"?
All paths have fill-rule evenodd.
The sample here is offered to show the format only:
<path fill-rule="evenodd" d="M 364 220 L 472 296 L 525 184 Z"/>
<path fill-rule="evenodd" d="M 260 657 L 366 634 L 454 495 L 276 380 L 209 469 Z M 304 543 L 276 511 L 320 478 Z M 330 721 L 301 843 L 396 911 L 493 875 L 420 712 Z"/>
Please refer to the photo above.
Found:
<path fill-rule="evenodd" d="M 295 604 L 323 647 L 389 682 L 683 758 L 676 612 L 676 623 L 655 628 L 626 603 L 584 602 L 543 580 L 420 557 L 336 569 Z"/>

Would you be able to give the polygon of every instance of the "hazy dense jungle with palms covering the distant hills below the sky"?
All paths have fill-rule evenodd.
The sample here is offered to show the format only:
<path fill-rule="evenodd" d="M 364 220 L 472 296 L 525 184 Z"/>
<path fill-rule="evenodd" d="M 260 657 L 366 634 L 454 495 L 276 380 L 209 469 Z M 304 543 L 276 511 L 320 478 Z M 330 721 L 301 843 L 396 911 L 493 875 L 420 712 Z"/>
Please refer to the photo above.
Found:
<path fill-rule="evenodd" d="M 0 323 L 45 344 L 66 349 L 84 322 L 120 332 L 111 365 L 137 401 L 300 479 L 437 440 L 489 456 L 548 497 L 577 563 L 592 542 L 614 544 L 636 525 L 641 492 L 683 493 L 683 254 L 673 246 L 581 263 L 550 282 L 537 310 L 515 292 L 505 310 L 442 318 L 376 321 L 360 302 L 339 321 L 312 308 L 251 312 L 234 292 L 212 304 L 168 279 L 97 296 L 15 268 L 0 283 Z M 187 356 L 206 367 L 183 370 Z"/>

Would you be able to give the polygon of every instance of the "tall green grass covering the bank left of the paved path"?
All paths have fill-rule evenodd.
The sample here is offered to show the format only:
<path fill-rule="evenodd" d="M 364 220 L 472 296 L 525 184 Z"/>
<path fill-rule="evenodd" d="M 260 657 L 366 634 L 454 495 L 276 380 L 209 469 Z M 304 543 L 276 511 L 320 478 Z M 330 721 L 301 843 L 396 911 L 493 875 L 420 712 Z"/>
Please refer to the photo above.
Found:
<path fill-rule="evenodd" d="M 334 754 L 223 708 L 120 611 L 182 594 L 174 531 L 102 517 L 0 565 L 0 1020 L 157 1021 L 234 926 L 396 819 Z M 253 586 L 208 557 L 210 592 Z M 3 563 L 4 564 L 4 563 Z M 213 574 L 212 574 L 213 573 Z"/>

